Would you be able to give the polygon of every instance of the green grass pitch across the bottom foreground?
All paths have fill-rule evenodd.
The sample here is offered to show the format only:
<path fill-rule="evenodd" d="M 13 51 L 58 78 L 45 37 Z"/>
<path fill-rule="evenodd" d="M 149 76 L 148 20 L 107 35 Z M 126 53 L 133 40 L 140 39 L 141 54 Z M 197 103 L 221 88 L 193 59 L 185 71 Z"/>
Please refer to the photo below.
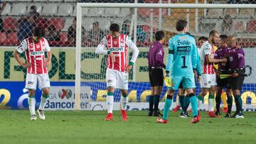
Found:
<path fill-rule="evenodd" d="M 256 143 L 256 113 L 245 118 L 208 118 L 200 123 L 170 111 L 169 123 L 156 123 L 146 111 L 129 111 L 129 121 L 103 121 L 106 111 L 46 111 L 46 121 L 30 121 L 28 111 L 0 110 L 0 143 Z M 223 116 L 223 115 L 222 115 Z"/>

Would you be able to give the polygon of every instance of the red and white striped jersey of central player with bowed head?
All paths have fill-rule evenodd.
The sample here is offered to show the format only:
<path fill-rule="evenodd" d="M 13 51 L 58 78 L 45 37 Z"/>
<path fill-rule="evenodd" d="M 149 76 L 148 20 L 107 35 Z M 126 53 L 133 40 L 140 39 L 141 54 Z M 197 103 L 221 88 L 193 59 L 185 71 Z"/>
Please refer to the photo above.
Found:
<path fill-rule="evenodd" d="M 103 50 L 104 48 L 107 50 Z M 112 35 L 105 35 L 100 45 L 97 46 L 96 53 L 107 55 L 107 52 L 113 52 L 115 62 L 108 56 L 107 68 L 124 72 L 125 67 L 127 67 L 127 48 L 133 50 L 130 62 L 134 63 L 139 55 L 139 50 L 128 35 L 120 34 L 117 38 L 112 38 Z"/>

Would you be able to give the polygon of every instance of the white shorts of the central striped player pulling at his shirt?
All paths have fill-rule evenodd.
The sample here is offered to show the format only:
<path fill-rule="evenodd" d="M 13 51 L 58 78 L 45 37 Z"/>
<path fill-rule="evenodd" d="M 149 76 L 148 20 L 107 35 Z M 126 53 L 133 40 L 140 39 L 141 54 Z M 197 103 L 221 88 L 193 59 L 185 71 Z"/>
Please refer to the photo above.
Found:
<path fill-rule="evenodd" d="M 107 87 L 128 90 L 128 74 L 126 72 L 119 72 L 118 70 L 107 69 L 106 81 Z"/>

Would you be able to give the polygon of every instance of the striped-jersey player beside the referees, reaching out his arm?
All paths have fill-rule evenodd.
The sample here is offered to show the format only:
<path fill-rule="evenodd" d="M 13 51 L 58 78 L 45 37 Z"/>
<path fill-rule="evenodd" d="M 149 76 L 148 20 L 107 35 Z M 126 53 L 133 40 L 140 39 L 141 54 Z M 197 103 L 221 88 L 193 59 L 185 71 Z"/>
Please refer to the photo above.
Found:
<path fill-rule="evenodd" d="M 203 43 L 201 47 L 201 71 L 202 76 L 200 80 L 201 93 L 198 95 L 198 107 L 203 101 L 203 96 L 209 92 L 209 117 L 218 117 L 214 111 L 214 94 L 216 83 L 216 75 L 213 63 L 227 62 L 226 58 L 215 59 L 213 45 L 218 43 L 219 33 L 217 31 L 210 31 L 209 39 Z"/>

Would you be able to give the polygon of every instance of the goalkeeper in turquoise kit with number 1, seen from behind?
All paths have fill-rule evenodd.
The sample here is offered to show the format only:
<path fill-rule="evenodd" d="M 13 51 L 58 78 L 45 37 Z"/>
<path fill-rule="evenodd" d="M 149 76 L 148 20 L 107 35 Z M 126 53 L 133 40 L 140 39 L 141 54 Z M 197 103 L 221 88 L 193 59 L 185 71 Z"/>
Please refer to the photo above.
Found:
<path fill-rule="evenodd" d="M 166 62 L 166 77 L 171 76 L 171 87 L 168 87 L 166 101 L 164 104 L 164 116 L 158 118 L 158 123 L 167 123 L 169 109 L 171 107 L 174 91 L 178 89 L 180 83 L 191 101 L 193 118 L 191 123 L 198 123 L 198 107 L 193 88 L 196 87 L 193 70 L 196 69 L 198 53 L 196 50 L 196 40 L 186 34 L 187 22 L 179 20 L 176 23 L 178 34 L 169 40 L 169 55 Z"/>

